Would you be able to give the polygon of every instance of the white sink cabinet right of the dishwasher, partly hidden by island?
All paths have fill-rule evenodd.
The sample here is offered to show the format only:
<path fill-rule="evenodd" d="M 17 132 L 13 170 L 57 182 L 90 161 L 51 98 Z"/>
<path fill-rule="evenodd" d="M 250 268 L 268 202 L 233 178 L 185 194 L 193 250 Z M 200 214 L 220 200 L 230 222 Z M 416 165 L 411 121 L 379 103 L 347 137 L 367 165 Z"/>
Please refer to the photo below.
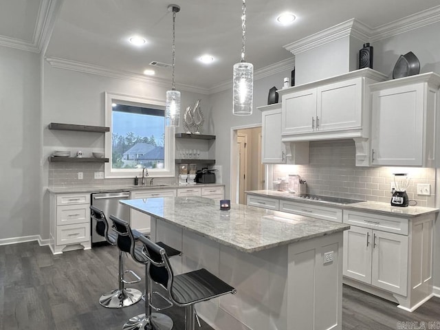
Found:
<path fill-rule="evenodd" d="M 151 198 L 151 197 L 167 197 L 176 196 L 175 189 L 149 189 L 149 190 L 133 190 L 130 193 L 131 199 Z M 150 216 L 137 210 L 130 209 L 130 225 L 132 229 L 138 230 L 143 234 L 149 234 L 151 231 Z"/>

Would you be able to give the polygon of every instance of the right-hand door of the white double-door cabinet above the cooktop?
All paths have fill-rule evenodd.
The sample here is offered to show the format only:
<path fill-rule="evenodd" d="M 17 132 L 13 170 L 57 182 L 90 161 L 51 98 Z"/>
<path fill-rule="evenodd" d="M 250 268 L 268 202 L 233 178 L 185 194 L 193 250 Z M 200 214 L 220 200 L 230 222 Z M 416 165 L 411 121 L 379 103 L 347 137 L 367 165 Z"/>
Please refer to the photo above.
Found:
<path fill-rule="evenodd" d="M 362 124 L 362 78 L 318 87 L 316 130 L 360 128 Z"/>

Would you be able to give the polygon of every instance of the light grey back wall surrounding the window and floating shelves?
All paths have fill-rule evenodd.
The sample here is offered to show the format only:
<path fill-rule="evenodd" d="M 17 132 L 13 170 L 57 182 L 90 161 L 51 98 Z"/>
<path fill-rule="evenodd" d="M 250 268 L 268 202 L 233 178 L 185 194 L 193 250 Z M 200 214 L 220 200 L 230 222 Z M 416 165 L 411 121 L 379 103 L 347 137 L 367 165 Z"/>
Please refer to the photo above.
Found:
<path fill-rule="evenodd" d="M 178 88 L 179 86 L 177 86 Z M 47 129 L 50 122 L 67 124 L 86 124 L 104 126 L 104 92 L 109 91 L 144 98 L 165 100 L 165 87 L 157 87 L 146 83 L 108 78 L 94 74 L 85 74 L 66 69 L 44 65 L 43 80 L 43 188 L 47 188 L 48 162 L 47 156 L 61 146 L 71 151 L 104 149 L 104 135 L 98 133 L 81 133 L 75 131 L 52 131 Z M 208 96 L 181 91 L 182 111 L 190 104 L 201 98 L 201 107 L 207 112 Z M 207 127 L 206 127 L 207 128 Z M 177 131 L 183 131 L 178 129 Z M 203 133 L 209 134 L 206 129 Z M 63 149 L 64 150 L 64 149 Z M 49 235 L 48 195 L 45 194 L 43 213 L 43 228 L 41 236 L 45 239 Z"/>

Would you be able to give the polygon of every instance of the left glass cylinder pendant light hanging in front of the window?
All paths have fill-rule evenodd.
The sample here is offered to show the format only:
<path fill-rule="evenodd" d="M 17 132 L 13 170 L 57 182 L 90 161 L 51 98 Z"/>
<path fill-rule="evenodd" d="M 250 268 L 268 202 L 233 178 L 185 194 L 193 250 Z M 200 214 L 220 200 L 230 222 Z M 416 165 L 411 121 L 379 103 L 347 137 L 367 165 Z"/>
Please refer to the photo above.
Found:
<path fill-rule="evenodd" d="M 176 12 L 180 11 L 179 5 L 168 5 L 168 11 L 173 12 L 173 87 L 166 91 L 166 126 L 179 126 L 180 120 L 180 92 L 176 91 L 174 68 L 176 63 L 175 52 L 175 32 L 176 32 Z"/>

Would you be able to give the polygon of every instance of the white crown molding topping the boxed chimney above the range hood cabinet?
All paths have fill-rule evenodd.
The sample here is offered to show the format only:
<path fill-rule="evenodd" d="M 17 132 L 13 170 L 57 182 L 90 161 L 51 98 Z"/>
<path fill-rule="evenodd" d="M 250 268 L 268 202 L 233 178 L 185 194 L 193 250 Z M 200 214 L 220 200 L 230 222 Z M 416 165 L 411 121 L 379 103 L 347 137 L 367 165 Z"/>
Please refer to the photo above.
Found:
<path fill-rule="evenodd" d="M 370 35 L 371 28 L 369 26 L 356 19 L 349 19 L 348 21 L 311 34 L 311 36 L 307 36 L 294 43 L 289 43 L 283 47 L 292 54 L 299 54 L 346 36 L 355 36 L 357 39 L 366 41 L 369 40 Z"/>

